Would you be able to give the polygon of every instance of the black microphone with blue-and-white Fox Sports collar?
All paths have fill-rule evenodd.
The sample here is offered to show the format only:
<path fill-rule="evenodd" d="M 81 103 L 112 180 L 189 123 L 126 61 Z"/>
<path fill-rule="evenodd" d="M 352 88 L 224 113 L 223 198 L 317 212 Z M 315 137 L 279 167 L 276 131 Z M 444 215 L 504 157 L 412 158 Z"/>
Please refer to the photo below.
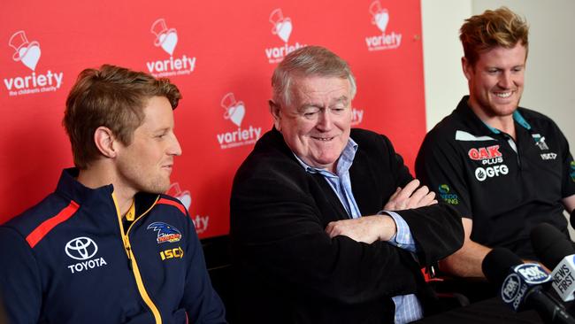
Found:
<path fill-rule="evenodd" d="M 515 312 L 534 309 L 548 323 L 570 323 L 575 320 L 563 305 L 543 291 L 551 277 L 542 266 L 523 263 L 513 252 L 495 248 L 483 259 L 481 269 L 489 282 L 502 286 L 501 298 Z"/>

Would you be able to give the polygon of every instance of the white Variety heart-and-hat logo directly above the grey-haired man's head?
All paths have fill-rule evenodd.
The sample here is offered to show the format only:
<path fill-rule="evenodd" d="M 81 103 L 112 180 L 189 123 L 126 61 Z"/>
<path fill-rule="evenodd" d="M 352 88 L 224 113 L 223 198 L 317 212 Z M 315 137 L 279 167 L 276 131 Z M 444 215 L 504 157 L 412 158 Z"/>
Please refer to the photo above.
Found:
<path fill-rule="evenodd" d="M 270 22 L 272 23 L 272 35 L 277 35 L 280 40 L 284 42 L 283 46 L 265 49 L 265 56 L 270 64 L 280 63 L 283 58 L 292 51 L 306 46 L 299 42 L 295 42 L 295 44 L 291 45 L 288 43 L 289 36 L 292 34 L 294 25 L 289 17 L 284 18 L 283 12 L 281 12 L 280 8 L 272 11 L 270 14 Z"/>

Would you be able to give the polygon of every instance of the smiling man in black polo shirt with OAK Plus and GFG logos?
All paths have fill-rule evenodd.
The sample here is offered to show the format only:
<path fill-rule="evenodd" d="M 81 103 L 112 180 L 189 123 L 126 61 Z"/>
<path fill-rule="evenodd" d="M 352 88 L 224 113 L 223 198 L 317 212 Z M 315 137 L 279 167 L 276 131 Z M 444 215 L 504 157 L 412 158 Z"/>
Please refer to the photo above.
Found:
<path fill-rule="evenodd" d="M 449 274 L 484 277 L 481 263 L 495 247 L 536 259 L 529 235 L 541 222 L 568 235 L 563 211 L 575 208 L 569 145 L 553 120 L 518 106 L 528 31 L 505 7 L 465 20 L 469 96 L 433 127 L 418 153 L 418 177 L 464 217 L 464 246 L 441 263 Z"/>

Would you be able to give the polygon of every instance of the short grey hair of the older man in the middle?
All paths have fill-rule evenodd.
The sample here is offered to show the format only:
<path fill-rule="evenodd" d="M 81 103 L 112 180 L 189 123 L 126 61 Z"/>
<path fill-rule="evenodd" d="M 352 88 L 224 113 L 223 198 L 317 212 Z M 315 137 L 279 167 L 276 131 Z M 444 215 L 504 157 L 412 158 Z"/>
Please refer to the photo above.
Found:
<path fill-rule="evenodd" d="M 348 79 L 350 100 L 356 96 L 356 78 L 346 61 L 321 46 L 305 46 L 294 50 L 281 61 L 272 75 L 273 101 L 291 104 L 291 84 L 295 77 L 322 76 Z"/>

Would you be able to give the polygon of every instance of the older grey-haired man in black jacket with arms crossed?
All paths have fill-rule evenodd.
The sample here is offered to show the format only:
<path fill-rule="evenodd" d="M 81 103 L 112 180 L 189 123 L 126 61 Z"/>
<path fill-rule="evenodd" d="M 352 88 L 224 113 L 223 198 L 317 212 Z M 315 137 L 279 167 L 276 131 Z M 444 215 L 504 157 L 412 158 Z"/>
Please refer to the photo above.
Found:
<path fill-rule="evenodd" d="M 242 323 L 405 323 L 439 311 L 422 266 L 463 229 L 386 136 L 351 129 L 356 81 L 333 52 L 290 53 L 272 76 L 273 128 L 234 178 Z"/>

